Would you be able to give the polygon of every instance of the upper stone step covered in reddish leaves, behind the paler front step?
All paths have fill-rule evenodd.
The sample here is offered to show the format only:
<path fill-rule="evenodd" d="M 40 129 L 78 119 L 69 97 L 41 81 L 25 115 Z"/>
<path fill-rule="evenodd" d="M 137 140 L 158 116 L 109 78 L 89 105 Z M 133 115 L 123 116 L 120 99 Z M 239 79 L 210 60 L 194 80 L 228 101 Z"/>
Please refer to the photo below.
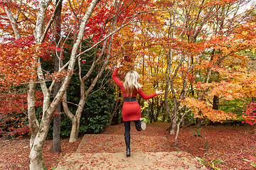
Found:
<path fill-rule="evenodd" d="M 157 139 L 157 140 L 156 140 Z M 131 151 L 132 152 L 170 152 L 171 142 L 166 137 L 159 136 L 131 136 Z M 117 153 L 124 152 L 125 142 L 124 135 L 85 135 L 78 147 L 78 153 Z"/>

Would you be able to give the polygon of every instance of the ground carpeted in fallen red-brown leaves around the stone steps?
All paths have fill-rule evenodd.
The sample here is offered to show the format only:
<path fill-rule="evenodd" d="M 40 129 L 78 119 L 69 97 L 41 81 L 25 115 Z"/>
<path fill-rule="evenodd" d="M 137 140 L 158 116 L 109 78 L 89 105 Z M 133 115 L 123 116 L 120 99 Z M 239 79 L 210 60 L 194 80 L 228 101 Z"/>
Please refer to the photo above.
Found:
<path fill-rule="evenodd" d="M 256 133 L 251 126 L 202 126 L 200 133 L 202 137 L 193 136 L 191 132 L 191 130 L 196 132 L 198 128 L 182 128 L 178 135 L 178 145 L 176 147 L 174 147 L 174 136 L 168 135 L 167 128 L 169 128 L 169 123 L 157 122 L 147 125 L 145 131 L 137 132 L 132 123 L 132 154 L 136 151 L 136 147 L 139 147 L 143 152 L 188 152 L 193 157 L 199 157 L 208 163 L 214 159 L 223 160 L 223 163 L 215 164 L 215 166 L 223 170 L 256 169 L 250 165 L 250 162 L 243 160 L 255 159 L 253 154 L 256 153 Z M 123 138 L 123 134 L 124 127 L 123 124 L 120 124 L 105 128 L 101 134 L 88 135 L 95 142 L 84 144 L 84 150 L 82 152 L 120 152 L 112 149 L 114 148 L 113 143 L 115 138 L 105 141 L 105 138 L 100 137 L 100 135 L 118 135 Z M 138 142 L 136 140 L 137 137 L 143 137 L 144 140 Z M 78 142 L 69 143 L 68 139 L 63 139 L 61 141 L 62 152 L 60 153 L 50 152 L 52 140 L 46 140 L 43 148 L 43 159 L 48 169 L 55 169 L 66 154 L 77 152 L 81 140 L 82 137 L 79 138 Z M 99 142 L 104 143 L 105 149 L 97 146 Z M 119 145 L 124 145 L 124 142 L 119 142 Z M 0 169 L 28 169 L 28 154 L 28 137 L 22 137 L 19 140 L 4 140 L 4 138 L 0 138 Z M 208 166 L 209 168 L 210 166 Z"/>

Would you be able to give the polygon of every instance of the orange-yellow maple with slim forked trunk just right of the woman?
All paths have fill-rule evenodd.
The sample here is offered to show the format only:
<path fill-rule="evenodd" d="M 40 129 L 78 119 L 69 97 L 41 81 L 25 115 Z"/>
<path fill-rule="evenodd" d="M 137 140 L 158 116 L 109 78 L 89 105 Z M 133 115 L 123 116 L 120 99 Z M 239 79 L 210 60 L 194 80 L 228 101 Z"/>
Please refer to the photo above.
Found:
<path fill-rule="evenodd" d="M 141 25 L 137 29 L 142 34 L 141 43 L 135 38 L 134 42 L 141 45 L 134 45 L 134 47 L 141 47 L 141 49 L 138 51 L 133 49 L 133 54 L 137 56 L 142 54 L 142 60 L 139 62 L 144 62 L 145 56 L 147 60 L 151 57 L 155 59 L 159 55 L 165 57 L 161 57 L 161 61 L 166 64 L 161 66 L 162 69 L 159 69 L 161 72 L 158 74 L 166 75 L 164 101 L 166 112 L 172 122 L 170 134 L 174 134 L 175 128 L 179 128 L 186 113 L 193 108 L 188 103 L 182 105 L 181 101 L 184 98 L 189 100 L 192 97 L 191 103 L 196 102 L 193 101 L 196 98 L 202 104 L 199 105 L 201 107 L 201 109 L 198 108 L 199 110 L 209 107 L 209 103 L 203 102 L 210 97 L 206 95 L 210 94 L 206 93 L 208 89 L 196 91 L 195 84 L 214 84 L 212 78 L 218 68 L 245 67 L 246 56 L 240 56 L 237 52 L 245 50 L 245 48 L 248 49 L 248 46 L 245 45 L 248 42 L 245 39 L 239 40 L 244 35 L 242 31 L 233 34 L 238 31 L 235 30 L 235 27 L 244 24 L 247 21 L 248 13 L 252 11 L 238 13 L 239 8 L 245 4 L 245 1 L 174 1 L 173 3 L 157 1 L 156 8 L 161 12 L 154 11 L 154 15 L 152 15 L 154 17 L 148 16 L 149 20 L 140 21 Z M 144 27 L 142 23 L 144 23 Z M 139 37 L 139 35 L 136 36 Z M 248 40 L 253 41 L 253 36 L 250 36 Z M 144 66 L 143 64 L 142 68 Z M 146 67 L 150 68 L 151 65 L 146 65 Z M 234 81 L 230 85 L 232 83 Z M 233 89 L 235 87 L 237 86 L 233 84 Z M 221 91 L 219 92 L 221 93 Z M 227 91 L 223 93 L 223 96 L 227 93 Z M 191 108 L 188 109 L 187 107 L 190 106 Z M 215 117 L 220 113 L 222 114 L 221 118 Z M 235 118 L 230 113 L 211 109 L 210 113 L 205 116 L 214 121 Z"/>

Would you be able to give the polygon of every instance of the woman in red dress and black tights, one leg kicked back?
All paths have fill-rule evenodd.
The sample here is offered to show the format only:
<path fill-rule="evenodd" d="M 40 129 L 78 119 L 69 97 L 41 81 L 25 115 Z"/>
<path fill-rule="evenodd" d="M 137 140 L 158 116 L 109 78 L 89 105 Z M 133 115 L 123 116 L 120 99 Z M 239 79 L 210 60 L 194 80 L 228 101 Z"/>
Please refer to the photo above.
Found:
<path fill-rule="evenodd" d="M 134 71 L 130 71 L 126 74 L 124 78 L 124 82 L 120 81 L 117 78 L 117 72 L 119 67 L 122 67 L 121 61 L 117 60 L 117 68 L 114 70 L 112 74 L 112 79 L 122 90 L 124 96 L 124 104 L 122 106 L 122 119 L 124 121 L 124 140 L 125 145 L 127 147 L 127 157 L 131 156 L 130 151 L 130 125 L 131 121 L 134 120 L 135 128 L 138 131 L 146 129 L 146 123 L 142 120 L 142 113 L 139 103 L 136 101 L 136 96 L 139 94 L 142 98 L 149 99 L 157 96 L 159 94 L 164 94 L 163 91 L 158 91 L 154 94 L 146 95 L 144 91 L 142 91 L 142 86 L 139 84 L 139 74 Z"/>

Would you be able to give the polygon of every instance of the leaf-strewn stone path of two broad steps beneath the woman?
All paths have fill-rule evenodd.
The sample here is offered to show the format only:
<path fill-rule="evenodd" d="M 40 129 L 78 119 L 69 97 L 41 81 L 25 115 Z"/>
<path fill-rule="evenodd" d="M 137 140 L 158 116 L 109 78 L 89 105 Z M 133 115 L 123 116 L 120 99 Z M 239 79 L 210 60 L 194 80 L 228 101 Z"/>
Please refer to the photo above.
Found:
<path fill-rule="evenodd" d="M 187 152 L 164 152 L 170 145 L 160 138 L 133 135 L 132 156 L 126 157 L 123 135 L 85 135 L 77 152 L 60 160 L 57 169 L 206 169 Z"/>

